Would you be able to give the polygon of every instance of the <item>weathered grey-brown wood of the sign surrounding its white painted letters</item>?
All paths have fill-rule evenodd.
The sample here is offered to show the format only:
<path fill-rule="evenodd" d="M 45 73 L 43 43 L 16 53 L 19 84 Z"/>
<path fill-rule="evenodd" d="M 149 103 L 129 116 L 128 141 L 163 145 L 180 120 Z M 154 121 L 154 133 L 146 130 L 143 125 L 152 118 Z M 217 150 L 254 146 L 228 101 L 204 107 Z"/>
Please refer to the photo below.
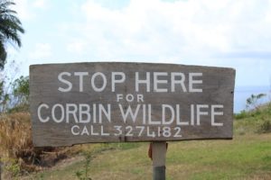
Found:
<path fill-rule="evenodd" d="M 59 88 L 67 89 L 69 85 L 60 81 L 58 76 L 61 72 L 69 72 L 70 76 L 63 76 L 72 84 L 69 92 L 61 92 Z M 79 84 L 79 76 L 74 76 L 75 72 L 87 72 L 88 76 L 82 77 L 83 85 Z M 91 78 L 95 73 L 100 72 L 107 78 L 107 85 L 101 92 L 96 92 L 91 86 Z M 123 72 L 126 80 L 123 83 L 115 85 L 115 92 L 112 92 L 112 72 Z M 135 72 L 138 72 L 140 79 L 146 78 L 146 72 L 150 73 L 150 91 L 148 92 L 146 85 L 139 85 L 138 92 L 135 91 Z M 154 72 L 167 73 L 167 76 L 158 76 L 159 80 L 167 83 L 160 83 L 157 85 L 158 89 L 167 89 L 168 92 L 154 91 Z M 172 78 L 171 73 L 182 73 L 185 76 L 183 81 L 186 92 L 183 91 L 182 85 L 175 85 L 175 91 L 172 92 Z M 193 84 L 194 89 L 202 89 L 202 92 L 189 92 L 189 73 L 202 73 L 202 76 L 194 77 L 194 80 L 202 80 L 202 84 Z M 180 77 L 180 76 L 179 76 Z M 116 76 L 117 80 L 121 76 Z M 177 79 L 178 80 L 178 79 Z M 179 79 L 180 80 L 180 79 Z M 103 85 L 101 76 L 94 78 L 93 83 L 97 88 Z M 118 141 L 163 141 L 163 140 L 187 140 L 187 139 L 231 139 L 232 138 L 232 116 L 233 116 L 233 95 L 235 83 L 235 70 L 225 67 L 201 67 L 201 66 L 184 66 L 175 64 L 149 64 L 149 63 L 120 63 L 120 62 L 98 62 L 98 63 L 70 63 L 70 64 L 46 64 L 33 65 L 30 67 L 30 101 L 32 113 L 33 126 L 33 144 L 36 147 L 59 147 L 72 146 L 74 144 L 91 143 L 91 142 L 118 142 Z M 123 94 L 123 100 L 117 102 L 117 94 Z M 126 94 L 142 94 L 144 102 L 136 100 L 127 102 Z M 50 120 L 42 122 L 38 116 L 38 107 L 41 104 L 47 104 L 49 108 L 42 107 L 41 117 L 45 119 L 49 117 Z M 78 123 L 79 112 L 76 112 L 76 117 L 68 114 L 67 111 L 63 114 L 61 122 L 52 121 L 51 108 L 55 104 L 60 104 L 64 108 L 67 104 L 76 104 L 79 109 L 79 104 L 89 104 L 89 114 L 91 116 L 89 123 Z M 95 117 L 93 117 L 93 104 L 101 104 L 106 107 L 110 104 L 111 121 L 107 121 L 105 115 L 101 116 L 101 123 L 98 123 L 98 109 Z M 140 105 L 135 122 L 131 116 L 128 116 L 126 121 L 123 120 L 120 106 L 123 111 L 132 108 L 135 112 L 137 105 Z M 144 107 L 151 105 L 151 112 Z M 171 124 L 149 124 L 148 114 L 151 115 L 151 121 L 162 121 L 162 104 L 168 104 L 174 108 L 174 118 Z M 194 104 L 194 118 L 197 117 L 196 105 L 204 104 L 201 112 L 207 112 L 208 115 L 200 115 L 200 124 L 192 125 L 192 104 Z M 211 105 L 221 104 L 223 108 L 217 108 L 215 111 L 222 112 L 223 115 L 216 115 L 215 121 L 223 124 L 222 126 L 211 125 Z M 180 108 L 180 121 L 187 121 L 188 125 L 177 124 L 177 110 L 176 105 Z M 206 108 L 207 106 L 208 108 Z M 69 106 L 69 105 L 68 105 Z M 70 109 L 70 111 L 72 108 Z M 144 114 L 145 120 L 144 120 Z M 171 119 L 171 112 L 167 108 L 165 111 L 165 119 Z M 55 107 L 54 116 L 61 119 L 60 106 Z M 87 115 L 82 115 L 83 119 Z M 71 128 L 76 132 L 85 129 L 92 130 L 94 133 L 73 135 Z M 121 134 L 118 134 L 117 126 L 122 127 Z M 142 134 L 140 134 L 141 127 L 144 127 Z M 101 128 L 102 127 L 102 128 Z M 136 128 L 137 127 L 137 128 Z M 171 135 L 168 137 L 167 128 L 170 128 Z M 101 135 L 101 129 L 104 133 L 109 135 Z M 132 129 L 132 136 L 129 133 Z M 177 131 L 181 129 L 180 133 Z M 149 136 L 155 133 L 155 137 Z M 98 133 L 98 135 L 95 135 Z M 149 134 L 148 134 L 149 133 Z M 175 136 L 174 134 L 181 135 Z M 166 135 L 166 136 L 164 136 Z"/>

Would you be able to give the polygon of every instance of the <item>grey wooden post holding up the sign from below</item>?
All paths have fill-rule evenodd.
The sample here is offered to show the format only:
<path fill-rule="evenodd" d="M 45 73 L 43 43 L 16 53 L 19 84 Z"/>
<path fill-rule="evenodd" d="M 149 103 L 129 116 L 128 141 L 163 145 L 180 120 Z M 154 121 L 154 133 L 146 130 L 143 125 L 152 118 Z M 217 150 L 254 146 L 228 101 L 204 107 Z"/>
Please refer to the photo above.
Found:
<path fill-rule="evenodd" d="M 152 143 L 153 180 L 165 180 L 166 142 Z"/>

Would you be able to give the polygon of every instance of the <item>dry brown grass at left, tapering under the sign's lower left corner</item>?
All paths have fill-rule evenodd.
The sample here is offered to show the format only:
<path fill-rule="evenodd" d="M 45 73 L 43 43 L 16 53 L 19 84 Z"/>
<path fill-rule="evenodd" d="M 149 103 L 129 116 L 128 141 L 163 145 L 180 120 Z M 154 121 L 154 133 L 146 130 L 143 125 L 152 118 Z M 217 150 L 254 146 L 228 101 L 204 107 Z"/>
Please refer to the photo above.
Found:
<path fill-rule="evenodd" d="M 34 148 L 29 112 L 0 114 L 0 160 L 11 174 L 18 175 L 54 166 L 59 160 L 81 151 L 72 148 Z"/>

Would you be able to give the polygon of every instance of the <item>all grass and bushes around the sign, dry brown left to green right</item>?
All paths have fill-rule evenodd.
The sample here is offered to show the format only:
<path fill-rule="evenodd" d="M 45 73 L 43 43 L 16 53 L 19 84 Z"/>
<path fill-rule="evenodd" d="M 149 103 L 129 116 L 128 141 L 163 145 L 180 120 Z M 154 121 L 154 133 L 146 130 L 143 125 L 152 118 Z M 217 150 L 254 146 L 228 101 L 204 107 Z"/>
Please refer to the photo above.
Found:
<path fill-rule="evenodd" d="M 5 105 L 0 115 L 0 161 L 5 163 L 5 178 L 152 178 L 148 143 L 33 148 L 29 78 L 15 79 L 10 83 L 10 93 L 6 93 L 4 84 L 0 86 L 0 103 L 2 107 Z M 167 179 L 270 179 L 271 103 L 259 104 L 260 96 L 251 95 L 251 101 L 247 101 L 257 104 L 254 109 L 235 114 L 233 140 L 171 142 L 167 152 Z M 63 158 L 81 156 L 83 159 L 67 166 L 51 168 Z"/>

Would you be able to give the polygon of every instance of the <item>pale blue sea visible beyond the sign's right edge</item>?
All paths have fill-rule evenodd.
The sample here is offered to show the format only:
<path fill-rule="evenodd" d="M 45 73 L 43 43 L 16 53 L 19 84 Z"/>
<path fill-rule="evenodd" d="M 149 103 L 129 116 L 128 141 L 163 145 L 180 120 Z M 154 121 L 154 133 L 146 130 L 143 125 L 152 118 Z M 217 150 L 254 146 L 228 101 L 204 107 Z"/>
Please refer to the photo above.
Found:
<path fill-rule="evenodd" d="M 236 86 L 234 92 L 234 112 L 238 113 L 246 110 L 247 99 L 251 94 L 266 94 L 257 103 L 267 103 L 271 101 L 271 86 Z"/>

